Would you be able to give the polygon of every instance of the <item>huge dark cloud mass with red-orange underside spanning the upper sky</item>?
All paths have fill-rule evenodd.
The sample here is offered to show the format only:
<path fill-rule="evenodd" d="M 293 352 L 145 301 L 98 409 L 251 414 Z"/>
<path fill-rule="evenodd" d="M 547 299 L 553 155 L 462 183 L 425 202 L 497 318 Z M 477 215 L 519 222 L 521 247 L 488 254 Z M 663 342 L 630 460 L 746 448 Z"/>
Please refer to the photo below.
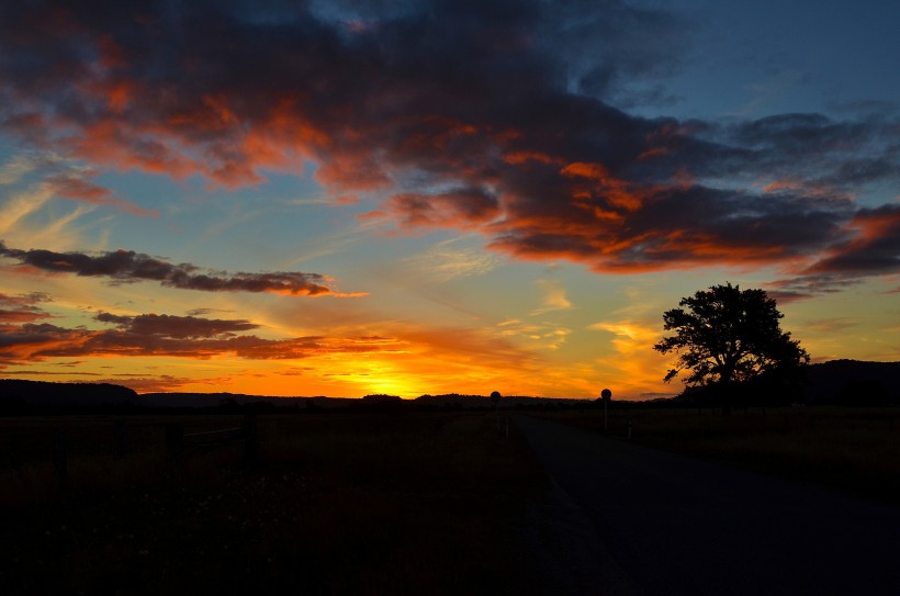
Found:
<path fill-rule="evenodd" d="M 98 167 L 234 187 L 312 162 L 335 196 L 387 196 L 378 214 L 400 228 L 475 229 L 514 257 L 603 272 L 800 274 L 818 262 L 842 277 L 860 255 L 866 275 L 892 267 L 871 259 L 886 228 L 858 245 L 853 195 L 900 182 L 897 117 L 631 115 L 673 100 L 654 83 L 677 69 L 689 27 L 665 11 L 617 0 L 2 10 L 0 126 Z M 221 290 L 249 281 L 213 278 Z"/>

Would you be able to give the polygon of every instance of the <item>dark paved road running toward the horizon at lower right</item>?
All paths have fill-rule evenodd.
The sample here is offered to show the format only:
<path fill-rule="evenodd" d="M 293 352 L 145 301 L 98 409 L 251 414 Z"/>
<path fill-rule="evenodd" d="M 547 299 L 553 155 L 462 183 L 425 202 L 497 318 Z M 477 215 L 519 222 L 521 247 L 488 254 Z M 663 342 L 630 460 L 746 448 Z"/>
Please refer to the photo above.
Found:
<path fill-rule="evenodd" d="M 596 585 L 583 592 L 900 595 L 900 508 L 547 420 L 516 425 L 593 529 Z"/>

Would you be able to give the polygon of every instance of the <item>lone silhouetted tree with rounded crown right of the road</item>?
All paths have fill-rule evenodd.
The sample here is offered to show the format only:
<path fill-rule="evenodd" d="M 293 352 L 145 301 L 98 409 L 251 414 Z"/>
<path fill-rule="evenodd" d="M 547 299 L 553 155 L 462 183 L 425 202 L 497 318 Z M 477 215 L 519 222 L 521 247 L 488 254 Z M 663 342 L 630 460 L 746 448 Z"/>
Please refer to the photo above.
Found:
<path fill-rule="evenodd" d="M 788 380 L 809 363 L 800 342 L 781 330 L 778 322 L 784 315 L 763 290 L 741 290 L 725 283 L 678 304 L 682 308 L 663 314 L 664 329 L 675 335 L 653 346 L 662 353 L 678 355 L 676 368 L 666 373 L 665 381 L 689 370 L 685 385 L 721 390 L 725 411 L 732 383 L 763 374 Z"/>

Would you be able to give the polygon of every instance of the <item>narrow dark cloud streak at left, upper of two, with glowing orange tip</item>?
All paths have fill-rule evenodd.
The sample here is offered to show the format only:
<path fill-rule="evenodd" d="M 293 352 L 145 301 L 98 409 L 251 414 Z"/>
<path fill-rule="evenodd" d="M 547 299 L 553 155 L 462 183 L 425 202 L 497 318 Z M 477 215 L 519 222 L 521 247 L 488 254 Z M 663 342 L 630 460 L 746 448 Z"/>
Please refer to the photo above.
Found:
<path fill-rule="evenodd" d="M 168 288 L 205 292 L 265 292 L 306 296 L 349 295 L 337 293 L 325 285 L 329 279 L 320 273 L 299 271 L 204 272 L 190 263 L 172 265 L 133 250 L 119 249 L 91 256 L 82 252 L 55 252 L 43 249 L 20 250 L 9 248 L 0 241 L 0 257 L 18 260 L 23 266 L 54 273 L 110 278 L 113 283 L 147 280 L 158 281 Z"/>

